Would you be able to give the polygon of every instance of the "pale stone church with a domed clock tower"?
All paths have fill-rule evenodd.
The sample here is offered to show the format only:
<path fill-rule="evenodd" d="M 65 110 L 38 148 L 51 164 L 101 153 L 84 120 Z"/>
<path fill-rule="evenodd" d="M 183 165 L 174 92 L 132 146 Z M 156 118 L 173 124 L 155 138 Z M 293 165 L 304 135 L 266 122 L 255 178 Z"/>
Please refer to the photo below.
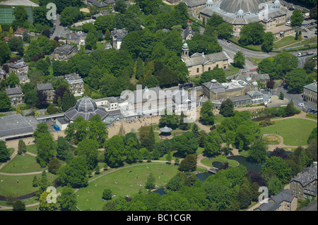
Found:
<path fill-rule="evenodd" d="M 229 57 L 225 51 L 207 55 L 205 55 L 204 52 L 195 53 L 192 56 L 189 56 L 189 47 L 187 43 L 184 43 L 182 46 L 181 60 L 186 64 L 190 77 L 201 75 L 205 71 L 213 70 L 215 67 L 227 69 L 229 66 Z"/>

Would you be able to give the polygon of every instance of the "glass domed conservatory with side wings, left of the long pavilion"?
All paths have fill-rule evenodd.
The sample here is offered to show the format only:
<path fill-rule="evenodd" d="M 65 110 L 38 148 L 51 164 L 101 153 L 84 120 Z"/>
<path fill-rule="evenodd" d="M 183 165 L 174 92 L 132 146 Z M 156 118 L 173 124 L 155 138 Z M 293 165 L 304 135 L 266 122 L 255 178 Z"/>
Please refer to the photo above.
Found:
<path fill-rule="evenodd" d="M 99 114 L 102 118 L 102 121 L 105 121 L 108 113 L 105 109 L 98 107 L 93 99 L 88 96 L 85 96 L 78 100 L 75 107 L 69 109 L 64 114 L 64 120 L 66 122 L 71 122 L 76 119 L 78 116 L 83 117 L 86 121 L 90 121 L 90 118 Z"/>

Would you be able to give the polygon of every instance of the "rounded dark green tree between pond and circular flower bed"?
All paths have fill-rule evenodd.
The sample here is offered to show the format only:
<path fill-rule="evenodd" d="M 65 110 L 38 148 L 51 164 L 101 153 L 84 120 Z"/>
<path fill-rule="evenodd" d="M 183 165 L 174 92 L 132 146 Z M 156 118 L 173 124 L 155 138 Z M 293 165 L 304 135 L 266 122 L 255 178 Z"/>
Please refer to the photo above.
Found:
<path fill-rule="evenodd" d="M 254 162 L 254 164 L 261 164 L 266 161 L 266 158 L 267 146 L 264 139 L 259 138 L 249 147 L 249 159 Z"/>

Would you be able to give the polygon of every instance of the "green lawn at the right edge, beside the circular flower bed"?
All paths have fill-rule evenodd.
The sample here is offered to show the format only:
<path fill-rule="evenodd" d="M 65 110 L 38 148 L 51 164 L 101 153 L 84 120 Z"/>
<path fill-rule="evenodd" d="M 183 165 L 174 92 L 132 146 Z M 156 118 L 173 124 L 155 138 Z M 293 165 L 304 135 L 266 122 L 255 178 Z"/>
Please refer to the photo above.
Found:
<path fill-rule="evenodd" d="M 261 128 L 261 134 L 281 135 L 285 145 L 304 146 L 317 122 L 304 118 L 287 118 L 275 121 L 275 124 Z"/>

